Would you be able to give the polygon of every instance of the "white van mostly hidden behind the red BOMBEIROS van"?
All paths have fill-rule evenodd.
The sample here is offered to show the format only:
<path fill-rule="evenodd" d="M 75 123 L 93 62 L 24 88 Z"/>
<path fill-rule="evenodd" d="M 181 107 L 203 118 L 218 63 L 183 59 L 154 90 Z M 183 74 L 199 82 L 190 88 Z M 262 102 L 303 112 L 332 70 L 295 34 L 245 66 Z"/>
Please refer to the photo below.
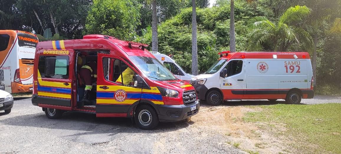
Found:
<path fill-rule="evenodd" d="M 161 64 L 163 64 L 170 72 L 172 72 L 176 78 L 190 82 L 191 78 L 194 77 L 194 75 L 186 73 L 176 62 L 174 59 L 170 58 L 169 56 L 165 54 L 161 54 L 159 52 L 151 51 L 151 54 L 157 58 Z"/>

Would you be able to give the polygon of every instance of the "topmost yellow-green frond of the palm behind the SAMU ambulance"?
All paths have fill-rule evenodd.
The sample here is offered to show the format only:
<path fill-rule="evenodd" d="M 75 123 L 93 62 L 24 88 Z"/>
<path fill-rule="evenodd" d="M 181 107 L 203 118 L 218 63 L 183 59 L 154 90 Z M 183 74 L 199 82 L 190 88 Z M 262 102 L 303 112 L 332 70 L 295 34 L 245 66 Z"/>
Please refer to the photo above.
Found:
<path fill-rule="evenodd" d="M 309 9 L 306 5 L 295 7 L 290 7 L 287 9 L 283 15 L 279 19 L 279 24 L 288 24 L 290 25 L 293 22 L 301 21 L 303 18 L 307 17 L 311 13 L 311 9 Z"/>

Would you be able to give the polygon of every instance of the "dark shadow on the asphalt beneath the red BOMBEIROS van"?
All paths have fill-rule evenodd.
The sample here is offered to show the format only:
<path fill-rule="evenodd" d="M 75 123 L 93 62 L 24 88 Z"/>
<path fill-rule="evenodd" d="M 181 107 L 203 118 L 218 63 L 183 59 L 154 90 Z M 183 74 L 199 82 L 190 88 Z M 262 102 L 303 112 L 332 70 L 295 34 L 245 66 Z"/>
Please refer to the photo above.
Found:
<path fill-rule="evenodd" d="M 0 113 L 1 115 L 2 113 Z M 139 129 L 133 122 L 132 118 L 97 118 L 95 114 L 65 112 L 60 119 L 48 119 L 44 112 L 35 114 L 19 115 L 0 120 L 4 125 L 12 126 L 28 126 L 58 129 L 62 131 L 70 130 L 70 133 L 63 132 L 63 136 L 71 137 L 81 135 L 107 134 L 107 136 L 115 136 L 121 132 L 124 133 L 161 133 L 175 131 L 177 129 L 186 128 L 194 122 L 174 122 L 159 123 L 153 130 Z M 59 131 L 57 131 L 59 132 Z"/>

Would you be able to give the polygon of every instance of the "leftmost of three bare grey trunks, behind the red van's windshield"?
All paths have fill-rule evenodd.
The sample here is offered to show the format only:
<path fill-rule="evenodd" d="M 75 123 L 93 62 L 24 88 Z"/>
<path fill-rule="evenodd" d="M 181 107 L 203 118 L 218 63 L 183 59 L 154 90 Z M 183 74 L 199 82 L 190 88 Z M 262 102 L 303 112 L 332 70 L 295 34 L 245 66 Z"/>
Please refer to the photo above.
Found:
<path fill-rule="evenodd" d="M 152 21 L 151 21 L 151 51 L 159 51 L 158 41 L 158 20 L 156 15 L 156 0 L 152 0 Z"/>

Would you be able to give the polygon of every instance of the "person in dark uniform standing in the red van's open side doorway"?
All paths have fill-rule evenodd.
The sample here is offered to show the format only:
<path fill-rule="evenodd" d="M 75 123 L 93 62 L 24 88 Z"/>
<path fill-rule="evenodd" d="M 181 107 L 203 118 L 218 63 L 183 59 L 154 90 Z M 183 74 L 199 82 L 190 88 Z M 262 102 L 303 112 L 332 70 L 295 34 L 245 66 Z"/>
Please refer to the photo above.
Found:
<path fill-rule="evenodd" d="M 97 62 L 90 61 L 83 65 L 79 70 L 79 75 L 83 83 L 85 84 L 84 96 L 79 106 L 84 106 L 85 103 L 89 103 L 89 94 L 92 89 L 92 79 L 97 79 Z"/>

